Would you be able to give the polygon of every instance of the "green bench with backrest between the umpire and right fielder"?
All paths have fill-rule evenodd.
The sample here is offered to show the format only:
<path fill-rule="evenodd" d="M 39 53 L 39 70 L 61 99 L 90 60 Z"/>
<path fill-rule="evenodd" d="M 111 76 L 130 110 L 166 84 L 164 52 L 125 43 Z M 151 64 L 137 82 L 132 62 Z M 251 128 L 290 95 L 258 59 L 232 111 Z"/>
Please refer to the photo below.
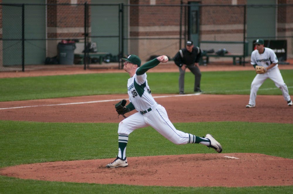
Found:
<path fill-rule="evenodd" d="M 210 57 L 230 57 L 233 58 L 233 65 L 236 65 L 237 59 L 239 59 L 239 64 L 244 65 L 245 57 L 248 56 L 248 42 L 241 41 L 200 41 L 199 47 L 203 50 L 201 63 L 209 63 Z M 220 49 L 226 49 L 228 53 L 223 53 L 221 55 L 217 53 L 207 53 L 206 50 L 214 50 L 215 52 Z M 244 52 L 243 52 L 244 49 Z"/>

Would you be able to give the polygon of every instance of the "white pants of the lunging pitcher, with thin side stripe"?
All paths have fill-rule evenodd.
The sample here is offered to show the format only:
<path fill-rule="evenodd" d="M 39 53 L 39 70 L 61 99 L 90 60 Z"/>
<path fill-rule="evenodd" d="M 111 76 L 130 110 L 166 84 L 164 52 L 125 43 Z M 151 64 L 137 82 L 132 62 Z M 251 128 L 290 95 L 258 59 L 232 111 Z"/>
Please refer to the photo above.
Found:
<path fill-rule="evenodd" d="M 151 126 L 162 136 L 175 144 L 186 144 L 189 134 L 177 130 L 168 118 L 166 109 L 157 105 L 154 109 L 142 115 L 136 112 L 119 123 L 118 134 L 129 135 L 135 129 Z"/>

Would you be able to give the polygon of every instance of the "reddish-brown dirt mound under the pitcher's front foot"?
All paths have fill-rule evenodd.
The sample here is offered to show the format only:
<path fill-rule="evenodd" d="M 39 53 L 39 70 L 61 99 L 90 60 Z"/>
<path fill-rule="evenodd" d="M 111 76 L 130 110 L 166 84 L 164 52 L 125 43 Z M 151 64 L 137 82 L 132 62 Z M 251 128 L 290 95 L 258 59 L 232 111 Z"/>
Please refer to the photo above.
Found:
<path fill-rule="evenodd" d="M 129 157 L 128 167 L 108 169 L 112 159 L 23 164 L 0 169 L 22 179 L 143 186 L 288 186 L 293 160 L 255 153 Z"/>

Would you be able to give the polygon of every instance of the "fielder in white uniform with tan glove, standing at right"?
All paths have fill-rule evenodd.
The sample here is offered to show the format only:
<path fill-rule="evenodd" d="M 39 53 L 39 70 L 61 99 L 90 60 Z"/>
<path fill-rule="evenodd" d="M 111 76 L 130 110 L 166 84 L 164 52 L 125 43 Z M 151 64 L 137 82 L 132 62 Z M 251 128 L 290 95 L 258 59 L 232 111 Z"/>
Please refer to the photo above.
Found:
<path fill-rule="evenodd" d="M 282 91 L 285 101 L 288 106 L 292 106 L 292 100 L 289 95 L 288 87 L 285 84 L 281 72 L 278 68 L 278 58 L 275 52 L 267 47 L 264 47 L 263 39 L 257 39 L 255 44 L 256 50 L 251 53 L 251 65 L 255 68 L 257 65 L 263 67 L 263 72 L 257 72 L 251 83 L 250 98 L 246 108 L 255 107 L 256 93 L 259 87 L 266 79 L 271 79 L 275 85 Z"/>

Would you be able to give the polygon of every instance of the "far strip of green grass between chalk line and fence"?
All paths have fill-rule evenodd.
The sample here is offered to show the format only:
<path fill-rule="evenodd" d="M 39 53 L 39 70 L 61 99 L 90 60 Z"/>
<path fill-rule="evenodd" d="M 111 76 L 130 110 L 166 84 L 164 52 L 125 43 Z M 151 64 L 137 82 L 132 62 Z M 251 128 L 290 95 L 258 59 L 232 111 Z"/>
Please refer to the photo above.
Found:
<path fill-rule="evenodd" d="M 281 70 L 283 79 L 293 89 L 293 70 Z M 152 93 L 178 93 L 178 72 L 147 73 Z M 254 71 L 202 72 L 201 89 L 209 94 L 248 94 Z M 56 75 L 0 79 L 0 102 L 127 93 L 127 79 L 123 73 Z M 185 93 L 193 93 L 194 76 L 185 75 Z M 260 87 L 258 94 L 282 95 L 272 80 Z"/>

